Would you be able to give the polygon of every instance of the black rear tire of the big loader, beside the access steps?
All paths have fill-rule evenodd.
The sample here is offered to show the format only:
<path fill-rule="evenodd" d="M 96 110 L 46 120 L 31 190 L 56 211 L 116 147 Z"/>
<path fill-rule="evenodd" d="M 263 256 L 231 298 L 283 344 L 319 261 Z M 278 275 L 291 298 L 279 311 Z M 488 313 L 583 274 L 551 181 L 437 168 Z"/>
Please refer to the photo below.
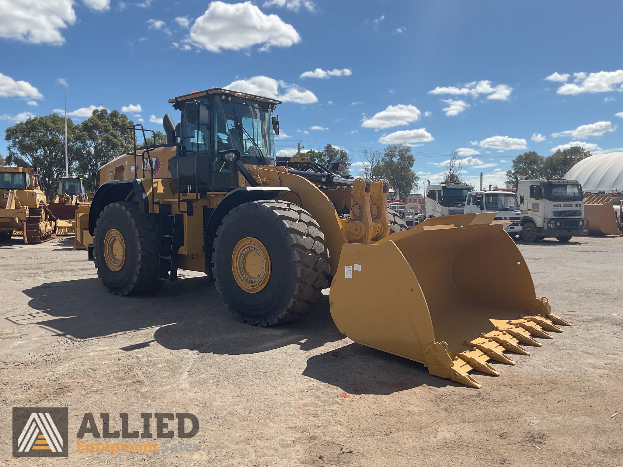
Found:
<path fill-rule="evenodd" d="M 119 235 L 121 238 L 118 238 Z M 107 237 L 109 244 L 105 245 Z M 158 278 L 158 217 L 155 214 L 140 214 L 136 202 L 121 201 L 107 205 L 95 224 L 94 242 L 97 275 L 111 293 L 141 295 L 159 290 L 164 285 L 164 281 Z M 121 244 L 123 247 L 118 246 Z M 112 254 L 113 247 L 123 251 L 121 257 Z M 108 255 L 108 261 L 105 255 Z M 120 261 L 120 258 L 123 260 Z M 121 262 L 121 265 L 115 265 L 115 261 Z"/>

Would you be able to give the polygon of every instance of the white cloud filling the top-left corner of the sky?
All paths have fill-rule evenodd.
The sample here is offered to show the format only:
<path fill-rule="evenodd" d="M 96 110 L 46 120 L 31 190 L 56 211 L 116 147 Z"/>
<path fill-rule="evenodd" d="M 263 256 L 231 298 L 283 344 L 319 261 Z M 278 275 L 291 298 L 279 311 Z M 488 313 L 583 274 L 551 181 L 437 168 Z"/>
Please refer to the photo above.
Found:
<path fill-rule="evenodd" d="M 0 1 L 0 37 L 31 44 L 60 45 L 60 34 L 76 21 L 73 0 Z"/>

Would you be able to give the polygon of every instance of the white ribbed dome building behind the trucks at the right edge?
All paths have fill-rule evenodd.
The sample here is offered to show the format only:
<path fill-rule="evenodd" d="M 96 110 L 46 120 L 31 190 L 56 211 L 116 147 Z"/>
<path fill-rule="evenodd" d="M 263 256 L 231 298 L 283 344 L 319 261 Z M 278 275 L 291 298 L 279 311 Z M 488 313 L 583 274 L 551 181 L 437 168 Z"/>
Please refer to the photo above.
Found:
<path fill-rule="evenodd" d="M 579 161 L 564 175 L 567 180 L 577 180 L 584 191 L 596 193 L 623 191 L 623 153 L 591 156 Z"/>

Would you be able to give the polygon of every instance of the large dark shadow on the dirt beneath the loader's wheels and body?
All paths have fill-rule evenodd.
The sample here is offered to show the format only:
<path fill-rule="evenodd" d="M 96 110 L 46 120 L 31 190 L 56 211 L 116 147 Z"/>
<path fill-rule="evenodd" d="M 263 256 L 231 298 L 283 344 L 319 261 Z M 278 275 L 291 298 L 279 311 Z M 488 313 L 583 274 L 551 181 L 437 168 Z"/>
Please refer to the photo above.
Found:
<path fill-rule="evenodd" d="M 23 291 L 42 313 L 10 316 L 15 324 L 39 324 L 69 339 L 103 339 L 128 334 L 125 351 L 156 342 L 168 349 L 214 354 L 254 354 L 297 344 L 303 350 L 344 338 L 333 324 L 328 298 L 306 316 L 272 328 L 235 320 L 207 277 L 182 278 L 157 295 L 118 297 L 98 278 L 44 283 Z M 136 331 L 157 328 L 153 339 L 133 339 Z"/>

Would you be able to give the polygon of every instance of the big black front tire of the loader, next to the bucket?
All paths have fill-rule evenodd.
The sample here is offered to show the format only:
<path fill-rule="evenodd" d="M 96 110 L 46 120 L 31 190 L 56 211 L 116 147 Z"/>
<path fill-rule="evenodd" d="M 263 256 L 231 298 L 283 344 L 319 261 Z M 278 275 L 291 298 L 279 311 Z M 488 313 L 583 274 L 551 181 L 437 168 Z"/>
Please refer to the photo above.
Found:
<path fill-rule="evenodd" d="M 259 276 L 256 282 L 261 285 L 254 291 L 249 291 L 254 285 L 245 285 L 245 278 L 232 267 L 239 264 L 241 242 L 258 242 L 262 275 L 264 262 L 269 271 L 267 280 Z M 236 319 L 252 326 L 297 318 L 320 300 L 328 285 L 325 235 L 307 210 L 288 202 L 254 201 L 232 209 L 216 232 L 212 258 L 212 275 L 223 303 Z M 240 265 L 241 270 L 248 266 Z"/>

